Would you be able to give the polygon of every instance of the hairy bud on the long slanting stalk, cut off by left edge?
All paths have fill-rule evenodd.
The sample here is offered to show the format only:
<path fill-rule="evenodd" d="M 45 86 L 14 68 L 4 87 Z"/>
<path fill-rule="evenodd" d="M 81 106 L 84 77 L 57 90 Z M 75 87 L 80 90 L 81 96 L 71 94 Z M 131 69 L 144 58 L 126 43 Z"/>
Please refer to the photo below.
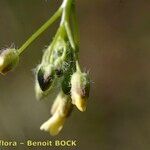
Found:
<path fill-rule="evenodd" d="M 3 50 L 0 54 L 0 73 L 6 74 L 14 69 L 19 62 L 19 55 L 14 48 Z"/>

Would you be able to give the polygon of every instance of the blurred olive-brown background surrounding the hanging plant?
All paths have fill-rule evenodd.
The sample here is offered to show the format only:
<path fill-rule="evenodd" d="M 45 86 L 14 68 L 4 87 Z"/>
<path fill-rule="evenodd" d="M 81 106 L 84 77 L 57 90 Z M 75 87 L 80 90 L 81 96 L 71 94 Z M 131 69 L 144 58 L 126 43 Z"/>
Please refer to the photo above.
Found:
<path fill-rule="evenodd" d="M 36 101 L 32 69 L 56 32 L 57 22 L 26 50 L 15 71 L 0 76 L 0 139 L 78 141 L 77 147 L 61 150 L 149 150 L 150 1 L 76 2 L 80 63 L 90 70 L 93 81 L 87 111 L 75 110 L 57 137 L 39 130 L 54 97 Z M 60 3 L 0 0 L 0 48 L 21 46 Z"/>

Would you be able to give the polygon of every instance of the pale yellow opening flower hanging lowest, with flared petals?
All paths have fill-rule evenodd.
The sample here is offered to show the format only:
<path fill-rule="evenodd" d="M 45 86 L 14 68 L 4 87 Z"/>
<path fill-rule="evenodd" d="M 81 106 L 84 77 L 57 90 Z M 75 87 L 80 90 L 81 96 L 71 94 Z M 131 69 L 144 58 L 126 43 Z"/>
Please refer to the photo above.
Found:
<path fill-rule="evenodd" d="M 72 104 L 70 97 L 60 92 L 51 109 L 52 117 L 46 121 L 40 129 L 49 132 L 53 136 L 57 135 L 63 128 L 65 120 L 71 113 L 71 110 Z"/>

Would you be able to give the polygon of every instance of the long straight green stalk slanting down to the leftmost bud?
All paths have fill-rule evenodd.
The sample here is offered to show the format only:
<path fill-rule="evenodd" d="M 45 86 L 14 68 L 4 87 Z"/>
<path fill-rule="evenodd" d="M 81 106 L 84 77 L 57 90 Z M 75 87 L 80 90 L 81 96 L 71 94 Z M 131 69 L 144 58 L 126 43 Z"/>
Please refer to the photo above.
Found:
<path fill-rule="evenodd" d="M 62 7 L 44 24 L 42 25 L 19 49 L 21 54 L 39 35 L 41 35 L 50 25 L 52 25 L 62 14 Z"/>

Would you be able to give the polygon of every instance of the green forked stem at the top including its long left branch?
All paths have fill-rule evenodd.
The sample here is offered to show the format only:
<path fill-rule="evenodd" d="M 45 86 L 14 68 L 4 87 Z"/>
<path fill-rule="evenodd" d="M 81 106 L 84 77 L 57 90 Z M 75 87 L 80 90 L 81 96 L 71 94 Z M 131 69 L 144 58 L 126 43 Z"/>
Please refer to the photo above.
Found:
<path fill-rule="evenodd" d="M 74 41 L 74 38 L 76 38 L 76 36 L 72 35 L 71 27 L 69 23 L 73 2 L 74 0 L 64 0 L 61 7 L 56 11 L 56 13 L 44 25 L 42 25 L 34 34 L 32 34 L 32 36 L 18 49 L 18 53 L 21 54 L 36 38 L 38 38 L 46 29 L 48 29 L 48 27 L 52 25 L 61 16 L 61 14 L 62 17 L 61 17 L 59 28 L 65 26 L 71 47 L 73 48 L 73 50 L 76 50 L 78 43 L 75 43 Z M 58 29 L 58 32 L 61 31 L 59 31 Z"/>

